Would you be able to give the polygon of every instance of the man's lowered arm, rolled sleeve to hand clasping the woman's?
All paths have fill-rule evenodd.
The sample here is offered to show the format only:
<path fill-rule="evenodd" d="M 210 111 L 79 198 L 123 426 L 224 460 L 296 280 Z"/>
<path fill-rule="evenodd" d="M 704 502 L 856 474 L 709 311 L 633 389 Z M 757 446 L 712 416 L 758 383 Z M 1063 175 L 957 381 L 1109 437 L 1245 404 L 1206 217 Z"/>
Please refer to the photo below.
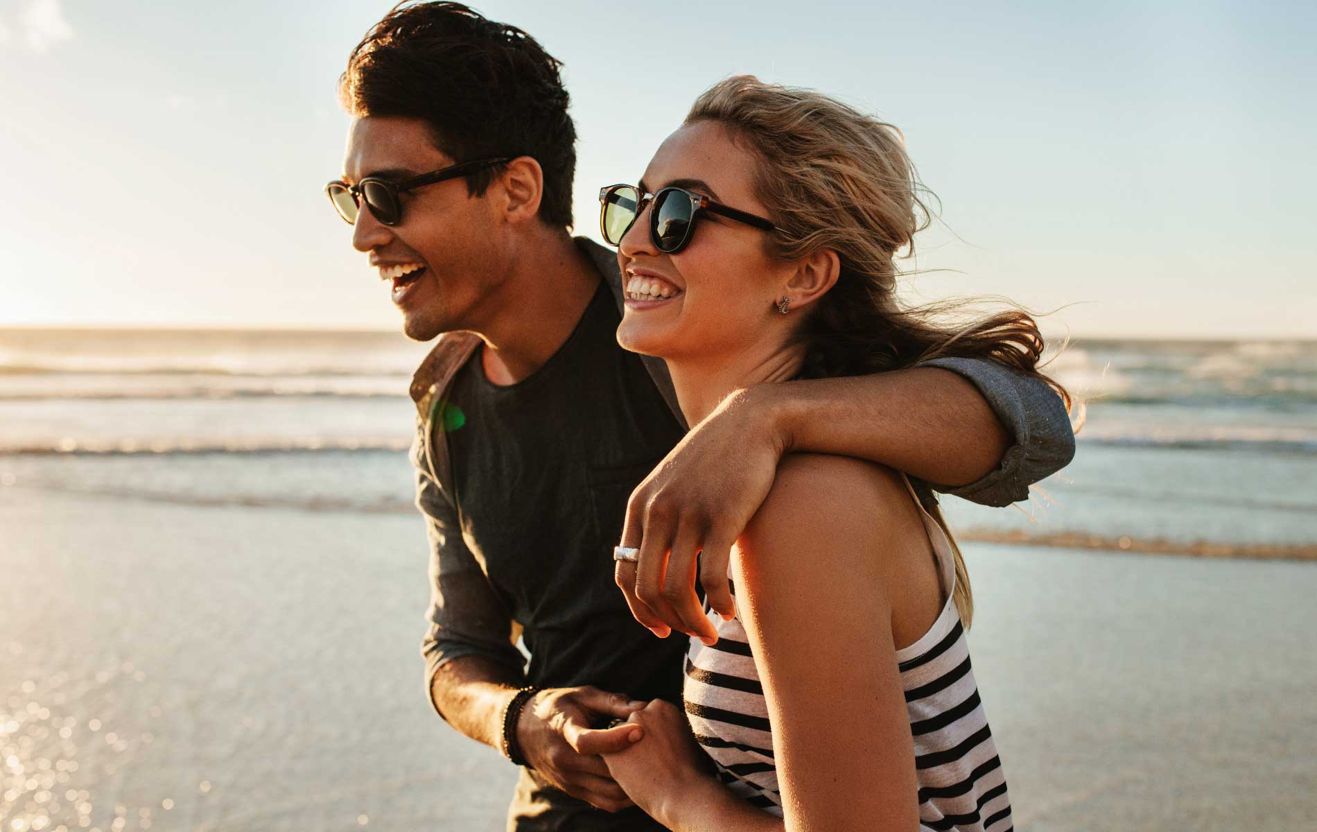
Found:
<path fill-rule="evenodd" d="M 424 429 L 424 428 L 421 428 Z M 416 507 L 431 552 L 429 629 L 421 641 L 427 690 L 435 712 L 453 728 L 503 750 L 503 719 L 525 685 L 524 660 L 512 645 L 512 616 L 466 542 L 457 509 L 412 446 Z M 631 806 L 598 754 L 630 746 L 632 731 L 594 731 L 601 717 L 626 719 L 643 703 L 595 687 L 539 691 L 515 725 L 527 762 L 572 796 L 618 811 Z"/>

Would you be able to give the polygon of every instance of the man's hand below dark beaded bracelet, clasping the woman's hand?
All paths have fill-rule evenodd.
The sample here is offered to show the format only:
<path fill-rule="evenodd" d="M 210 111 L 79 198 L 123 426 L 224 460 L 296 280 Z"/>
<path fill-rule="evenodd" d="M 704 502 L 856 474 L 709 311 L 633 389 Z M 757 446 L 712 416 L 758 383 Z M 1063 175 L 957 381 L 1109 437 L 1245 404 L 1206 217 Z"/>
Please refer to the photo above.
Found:
<path fill-rule="evenodd" d="M 599 754 L 627 749 L 644 732 L 633 724 L 607 729 L 590 725 L 627 719 L 644 704 L 598 687 L 543 690 L 522 710 L 516 740 L 525 761 L 547 781 L 573 798 L 616 812 L 633 803 Z"/>

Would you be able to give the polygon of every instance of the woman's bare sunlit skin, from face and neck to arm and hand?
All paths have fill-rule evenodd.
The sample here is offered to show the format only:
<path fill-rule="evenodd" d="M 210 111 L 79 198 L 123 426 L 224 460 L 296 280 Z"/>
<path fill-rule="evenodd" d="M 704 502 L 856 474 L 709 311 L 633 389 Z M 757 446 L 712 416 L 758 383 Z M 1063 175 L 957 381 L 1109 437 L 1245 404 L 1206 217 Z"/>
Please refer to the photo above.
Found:
<path fill-rule="evenodd" d="M 681 186 L 770 216 L 753 192 L 757 165 L 726 128 L 699 122 L 668 137 L 641 190 Z M 619 265 L 680 294 L 628 300 L 618 341 L 668 361 L 693 424 L 736 390 L 792 378 L 803 353 L 793 329 L 836 283 L 836 254 L 776 261 L 765 232 L 720 217 L 702 219 L 685 250 L 662 254 L 648 211 L 623 237 Z M 788 315 L 776 308 L 784 296 Z M 785 821 L 710 777 L 685 715 L 660 700 L 628 717 L 644 737 L 605 756 L 612 775 L 678 832 L 913 829 L 918 785 L 896 650 L 927 632 L 946 598 L 901 478 L 847 455 L 786 457 L 731 566 L 773 724 Z"/>

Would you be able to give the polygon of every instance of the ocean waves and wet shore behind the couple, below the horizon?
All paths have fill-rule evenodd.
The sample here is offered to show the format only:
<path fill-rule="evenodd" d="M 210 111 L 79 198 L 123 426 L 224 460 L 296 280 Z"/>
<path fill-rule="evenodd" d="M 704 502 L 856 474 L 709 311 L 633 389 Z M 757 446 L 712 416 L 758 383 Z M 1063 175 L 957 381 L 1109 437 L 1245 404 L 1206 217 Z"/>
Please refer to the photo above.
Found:
<path fill-rule="evenodd" d="M 500 829 L 424 699 L 395 333 L 0 330 L 0 828 Z M 1075 462 L 948 498 L 1022 828 L 1317 814 L 1317 342 L 1076 340 Z"/>

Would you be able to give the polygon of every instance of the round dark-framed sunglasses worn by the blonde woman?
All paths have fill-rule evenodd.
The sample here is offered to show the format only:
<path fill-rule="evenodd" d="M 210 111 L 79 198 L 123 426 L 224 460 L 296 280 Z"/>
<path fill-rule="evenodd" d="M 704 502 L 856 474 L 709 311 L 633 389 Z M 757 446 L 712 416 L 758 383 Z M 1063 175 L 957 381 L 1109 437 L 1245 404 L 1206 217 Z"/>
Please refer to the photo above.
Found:
<path fill-rule="evenodd" d="M 705 211 L 722 215 L 745 225 L 773 230 L 773 224 L 764 217 L 756 217 L 744 211 L 728 208 L 699 194 L 685 188 L 661 188 L 657 194 L 643 194 L 632 184 L 611 184 L 599 188 L 599 230 L 612 245 L 620 245 L 631 230 L 645 205 L 653 203 L 649 211 L 649 240 L 664 254 L 676 254 L 687 245 L 695 233 L 695 220 Z"/>

